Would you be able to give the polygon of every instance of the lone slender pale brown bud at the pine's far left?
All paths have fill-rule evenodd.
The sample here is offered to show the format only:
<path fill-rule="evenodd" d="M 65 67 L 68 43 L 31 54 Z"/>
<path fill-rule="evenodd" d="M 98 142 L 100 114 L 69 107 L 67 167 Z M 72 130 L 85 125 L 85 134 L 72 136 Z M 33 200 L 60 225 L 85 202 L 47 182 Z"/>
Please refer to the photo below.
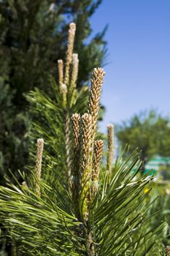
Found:
<path fill-rule="evenodd" d="M 37 140 L 37 151 L 36 151 L 36 173 L 35 176 L 39 181 L 42 174 L 42 152 L 44 148 L 44 140 L 38 139 Z M 36 184 L 36 195 L 40 196 L 40 187 L 39 184 Z"/>

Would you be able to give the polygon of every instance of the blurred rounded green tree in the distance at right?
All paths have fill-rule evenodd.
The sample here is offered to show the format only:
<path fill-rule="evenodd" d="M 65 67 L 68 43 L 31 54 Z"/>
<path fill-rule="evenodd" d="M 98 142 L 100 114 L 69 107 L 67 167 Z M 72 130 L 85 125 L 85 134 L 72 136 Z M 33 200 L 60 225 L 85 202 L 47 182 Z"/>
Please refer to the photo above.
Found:
<path fill-rule="evenodd" d="M 145 111 L 133 116 L 129 121 L 117 126 L 120 146 L 130 146 L 130 152 L 141 150 L 143 170 L 147 161 L 155 154 L 170 156 L 169 118 L 164 118 L 155 110 Z"/>

